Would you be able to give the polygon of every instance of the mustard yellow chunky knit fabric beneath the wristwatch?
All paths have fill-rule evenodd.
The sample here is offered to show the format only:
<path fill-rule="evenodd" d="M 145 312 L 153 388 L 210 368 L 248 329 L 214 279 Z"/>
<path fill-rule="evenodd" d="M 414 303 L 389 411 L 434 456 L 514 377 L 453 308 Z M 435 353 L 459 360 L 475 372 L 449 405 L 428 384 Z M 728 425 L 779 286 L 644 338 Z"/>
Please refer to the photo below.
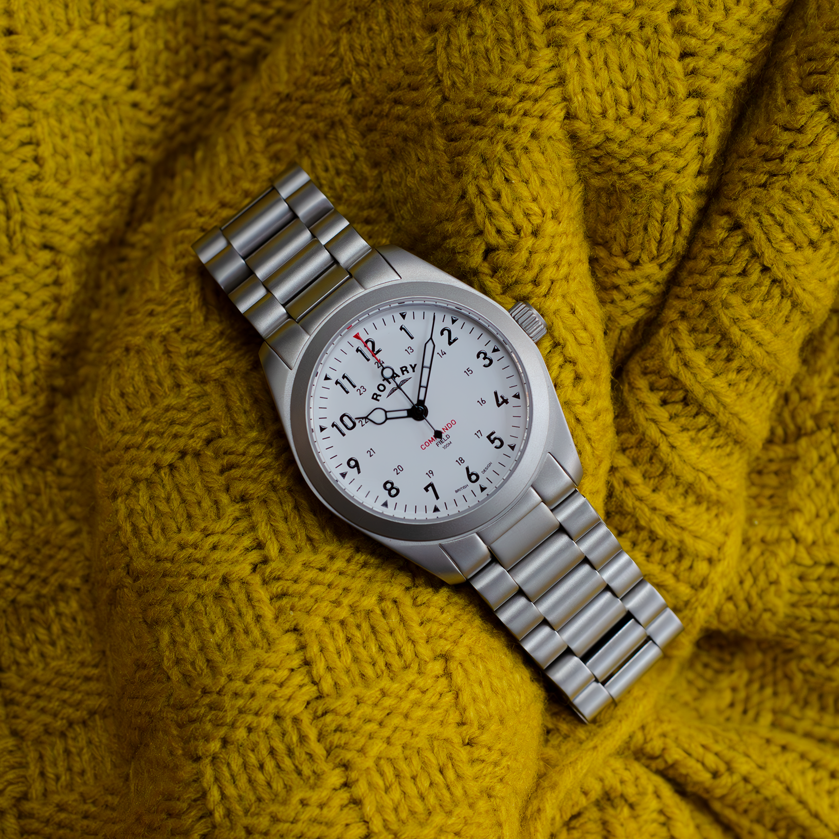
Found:
<path fill-rule="evenodd" d="M 6 0 L 0 836 L 839 834 L 831 0 Z M 685 623 L 581 725 L 341 524 L 190 243 L 289 162 L 508 306 Z"/>

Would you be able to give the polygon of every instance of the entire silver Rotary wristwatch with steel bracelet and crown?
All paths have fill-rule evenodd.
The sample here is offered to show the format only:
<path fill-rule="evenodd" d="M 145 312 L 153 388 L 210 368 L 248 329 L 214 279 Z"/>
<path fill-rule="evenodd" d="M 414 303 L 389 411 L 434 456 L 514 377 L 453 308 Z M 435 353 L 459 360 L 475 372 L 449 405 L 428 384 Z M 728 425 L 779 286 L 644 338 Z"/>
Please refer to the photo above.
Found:
<path fill-rule="evenodd" d="M 661 658 L 682 624 L 576 489 L 532 306 L 371 247 L 299 166 L 193 248 L 332 513 L 468 581 L 586 722 Z"/>

